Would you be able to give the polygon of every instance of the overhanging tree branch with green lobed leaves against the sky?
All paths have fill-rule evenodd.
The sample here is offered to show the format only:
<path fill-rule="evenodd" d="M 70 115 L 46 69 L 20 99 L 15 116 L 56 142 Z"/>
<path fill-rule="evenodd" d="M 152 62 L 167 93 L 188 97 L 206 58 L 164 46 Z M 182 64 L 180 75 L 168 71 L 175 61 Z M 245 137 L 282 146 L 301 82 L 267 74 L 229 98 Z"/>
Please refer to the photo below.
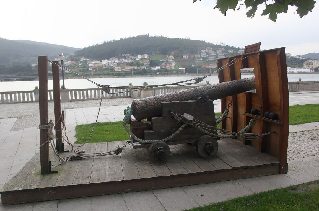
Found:
<path fill-rule="evenodd" d="M 193 3 L 197 0 L 193 0 Z M 198 0 L 201 1 L 201 0 Z M 242 4 L 243 3 L 243 4 Z M 279 13 L 286 13 L 289 6 L 296 6 L 297 13 L 300 18 L 307 15 L 315 7 L 314 0 L 217 0 L 214 9 L 218 8 L 221 13 L 226 16 L 229 9 L 239 10 L 241 6 L 245 6 L 247 18 L 253 18 L 260 5 L 265 4 L 266 8 L 261 15 L 269 15 L 269 19 L 276 22 Z"/>

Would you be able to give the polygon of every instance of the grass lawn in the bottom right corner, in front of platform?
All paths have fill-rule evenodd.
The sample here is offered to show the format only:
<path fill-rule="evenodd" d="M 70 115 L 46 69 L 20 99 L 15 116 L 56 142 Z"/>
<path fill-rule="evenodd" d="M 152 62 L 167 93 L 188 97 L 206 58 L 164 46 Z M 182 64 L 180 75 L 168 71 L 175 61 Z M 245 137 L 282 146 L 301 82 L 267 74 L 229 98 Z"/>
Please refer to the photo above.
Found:
<path fill-rule="evenodd" d="M 189 209 L 195 210 L 319 210 L 319 180 Z"/>

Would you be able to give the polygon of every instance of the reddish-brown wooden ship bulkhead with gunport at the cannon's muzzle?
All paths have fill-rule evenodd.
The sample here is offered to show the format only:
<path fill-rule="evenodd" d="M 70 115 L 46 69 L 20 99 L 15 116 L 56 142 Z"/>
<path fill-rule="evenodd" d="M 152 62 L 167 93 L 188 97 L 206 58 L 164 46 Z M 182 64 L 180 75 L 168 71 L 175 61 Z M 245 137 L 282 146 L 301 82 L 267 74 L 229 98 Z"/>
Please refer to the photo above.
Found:
<path fill-rule="evenodd" d="M 230 66 L 229 66 L 230 65 Z M 252 108 L 259 109 L 260 116 L 266 111 L 278 115 L 278 120 L 257 118 L 251 132 L 256 135 L 275 131 L 275 134 L 256 138 L 250 144 L 260 152 L 267 152 L 281 161 L 281 173 L 286 172 L 286 156 L 289 129 L 289 100 L 286 71 L 285 48 L 251 52 L 243 55 L 222 58 L 217 61 L 217 68 L 225 66 L 218 72 L 219 82 L 241 78 L 242 68 L 254 68 L 256 93 L 246 92 L 221 99 L 221 112 L 224 112 L 230 100 L 229 109 L 221 128 L 238 132 L 245 127 L 251 118 Z M 227 67 L 228 66 L 228 67 Z M 246 113 L 246 114 L 244 114 Z M 245 141 L 241 139 L 244 144 Z"/>

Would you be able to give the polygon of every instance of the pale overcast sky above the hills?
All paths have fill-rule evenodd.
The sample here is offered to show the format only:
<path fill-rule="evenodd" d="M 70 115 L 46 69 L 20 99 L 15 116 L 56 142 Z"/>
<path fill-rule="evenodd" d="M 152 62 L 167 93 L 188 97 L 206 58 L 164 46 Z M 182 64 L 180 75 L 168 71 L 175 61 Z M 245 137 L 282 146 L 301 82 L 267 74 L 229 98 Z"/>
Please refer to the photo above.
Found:
<path fill-rule="evenodd" d="M 240 11 L 226 17 L 213 9 L 215 0 L 0 0 L 0 37 L 83 48 L 103 41 L 140 34 L 190 38 L 231 46 L 261 42 L 261 49 L 286 47 L 292 55 L 319 52 L 319 6 L 304 18 L 279 14 L 276 23 Z"/>

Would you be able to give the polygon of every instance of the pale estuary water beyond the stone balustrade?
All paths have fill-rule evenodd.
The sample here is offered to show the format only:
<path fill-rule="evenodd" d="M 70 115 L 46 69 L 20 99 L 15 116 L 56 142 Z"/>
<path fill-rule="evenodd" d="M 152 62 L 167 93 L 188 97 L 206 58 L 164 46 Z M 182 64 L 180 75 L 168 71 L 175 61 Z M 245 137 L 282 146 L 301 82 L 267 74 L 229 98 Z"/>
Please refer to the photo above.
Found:
<path fill-rule="evenodd" d="M 196 77 L 202 77 L 204 75 L 192 75 L 192 76 L 148 76 L 148 77 L 118 77 L 118 78 L 92 78 L 90 80 L 101 85 L 117 85 L 127 86 L 132 83 L 133 86 L 143 85 L 147 82 L 149 85 L 168 84 Z M 252 77 L 254 75 L 241 75 L 242 78 Z M 51 76 L 52 77 L 52 76 Z M 50 78 L 50 77 L 49 77 Z M 301 78 L 302 81 L 319 81 L 319 74 L 288 74 L 288 82 L 296 82 Z M 212 75 L 205 78 L 200 84 L 205 84 L 209 81 L 210 84 L 218 83 L 218 76 Z M 85 79 L 65 79 L 65 88 L 68 89 L 82 89 L 82 88 L 94 88 L 95 84 Z M 62 80 L 60 80 L 62 85 Z M 0 92 L 2 91 L 29 91 L 33 90 L 35 86 L 39 86 L 38 81 L 12 81 L 12 82 L 0 82 Z M 52 80 L 48 80 L 48 89 L 53 89 Z"/>

